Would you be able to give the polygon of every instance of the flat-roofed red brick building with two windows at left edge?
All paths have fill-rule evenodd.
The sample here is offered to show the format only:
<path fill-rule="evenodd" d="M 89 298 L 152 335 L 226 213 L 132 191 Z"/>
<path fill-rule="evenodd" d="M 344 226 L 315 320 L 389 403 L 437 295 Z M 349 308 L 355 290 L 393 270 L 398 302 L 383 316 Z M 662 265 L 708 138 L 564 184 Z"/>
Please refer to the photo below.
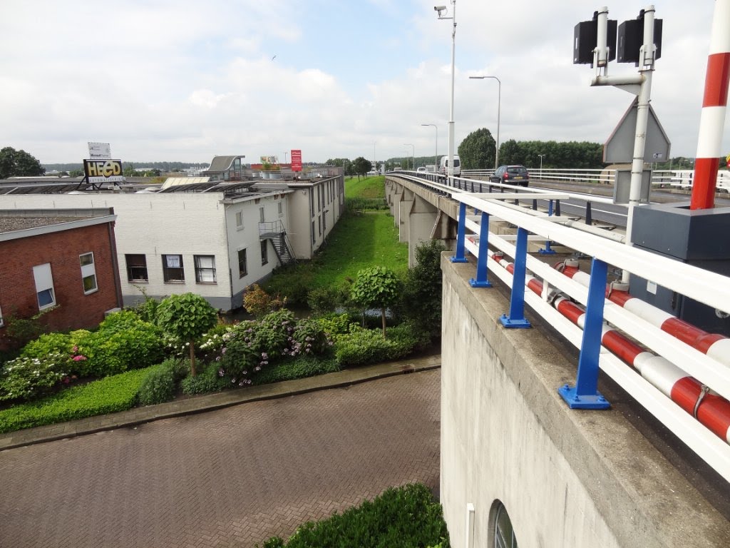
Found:
<path fill-rule="evenodd" d="M 0 210 L 0 349 L 9 316 L 52 331 L 96 327 L 121 306 L 111 208 Z"/>

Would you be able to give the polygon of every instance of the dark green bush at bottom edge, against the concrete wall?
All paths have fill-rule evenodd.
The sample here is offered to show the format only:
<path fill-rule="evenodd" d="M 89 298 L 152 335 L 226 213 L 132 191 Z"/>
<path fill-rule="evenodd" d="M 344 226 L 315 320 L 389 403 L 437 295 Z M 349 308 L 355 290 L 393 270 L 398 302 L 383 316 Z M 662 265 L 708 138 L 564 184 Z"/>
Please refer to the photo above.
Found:
<path fill-rule="evenodd" d="M 301 525 L 284 542 L 273 537 L 264 548 L 449 548 L 441 505 L 429 488 L 409 484 L 391 488 L 360 506 L 320 522 Z"/>

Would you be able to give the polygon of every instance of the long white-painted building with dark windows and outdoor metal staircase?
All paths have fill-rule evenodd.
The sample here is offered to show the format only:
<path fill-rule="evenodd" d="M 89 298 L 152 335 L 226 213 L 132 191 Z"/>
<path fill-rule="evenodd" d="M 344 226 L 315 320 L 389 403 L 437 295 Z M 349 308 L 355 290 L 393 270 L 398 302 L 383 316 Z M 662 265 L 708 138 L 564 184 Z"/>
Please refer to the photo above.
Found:
<path fill-rule="evenodd" d="M 332 168 L 328 168 L 332 171 Z M 242 306 L 243 294 L 275 267 L 311 259 L 345 205 L 341 170 L 310 179 L 196 182 L 142 191 L 40 192 L 27 181 L 0 187 L 0 209 L 113 208 L 124 305 L 193 292 L 215 308 Z M 66 192 L 76 186 L 64 187 Z"/>

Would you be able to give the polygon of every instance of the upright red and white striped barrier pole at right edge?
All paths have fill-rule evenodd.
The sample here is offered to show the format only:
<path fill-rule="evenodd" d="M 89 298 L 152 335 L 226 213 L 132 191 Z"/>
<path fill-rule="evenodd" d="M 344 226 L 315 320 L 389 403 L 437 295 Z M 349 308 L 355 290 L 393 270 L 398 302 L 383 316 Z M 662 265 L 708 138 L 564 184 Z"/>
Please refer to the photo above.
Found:
<path fill-rule="evenodd" d="M 730 0 L 715 0 L 690 209 L 715 207 L 730 81 Z"/>

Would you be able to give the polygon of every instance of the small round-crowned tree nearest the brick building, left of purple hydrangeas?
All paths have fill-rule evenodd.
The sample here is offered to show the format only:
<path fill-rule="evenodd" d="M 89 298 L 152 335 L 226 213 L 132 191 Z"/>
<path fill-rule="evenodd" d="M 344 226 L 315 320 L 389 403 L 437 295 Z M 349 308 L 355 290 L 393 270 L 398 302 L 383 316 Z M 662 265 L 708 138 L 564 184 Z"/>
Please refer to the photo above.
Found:
<path fill-rule="evenodd" d="M 195 340 L 218 321 L 218 313 L 200 295 L 170 295 L 157 307 L 157 324 L 170 335 L 190 344 L 190 373 L 195 371 Z"/>

